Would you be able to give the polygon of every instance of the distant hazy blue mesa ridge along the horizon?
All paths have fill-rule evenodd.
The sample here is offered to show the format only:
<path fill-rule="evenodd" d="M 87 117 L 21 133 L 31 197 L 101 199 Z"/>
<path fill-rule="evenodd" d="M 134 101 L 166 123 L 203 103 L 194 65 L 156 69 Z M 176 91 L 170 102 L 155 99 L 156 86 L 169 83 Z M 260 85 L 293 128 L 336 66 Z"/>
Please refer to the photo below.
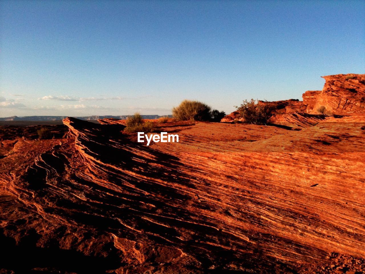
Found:
<path fill-rule="evenodd" d="M 96 121 L 97 119 L 106 119 L 106 118 L 115 118 L 115 119 L 126 119 L 128 116 L 131 115 L 119 115 L 119 116 L 113 116 L 113 115 L 105 115 L 105 116 L 82 116 L 82 117 L 74 117 L 80 120 L 84 121 Z M 163 116 L 172 117 L 172 115 L 142 115 L 143 119 L 158 119 Z M 3 117 L 0 118 L 0 121 L 58 121 L 65 119 L 68 116 L 24 116 L 24 117 L 18 117 L 18 116 L 11 116 L 11 117 Z"/>

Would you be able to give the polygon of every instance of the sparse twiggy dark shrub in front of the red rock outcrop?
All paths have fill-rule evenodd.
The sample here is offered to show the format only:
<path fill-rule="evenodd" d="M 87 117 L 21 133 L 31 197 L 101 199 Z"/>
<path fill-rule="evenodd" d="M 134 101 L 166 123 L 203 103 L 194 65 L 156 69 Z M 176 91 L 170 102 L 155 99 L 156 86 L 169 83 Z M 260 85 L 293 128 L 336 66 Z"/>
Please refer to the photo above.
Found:
<path fill-rule="evenodd" d="M 251 99 L 244 100 L 241 106 L 235 106 L 239 112 L 239 117 L 244 118 L 247 123 L 262 125 L 268 122 L 271 117 L 272 108 L 269 104 L 258 102 L 258 100 Z"/>

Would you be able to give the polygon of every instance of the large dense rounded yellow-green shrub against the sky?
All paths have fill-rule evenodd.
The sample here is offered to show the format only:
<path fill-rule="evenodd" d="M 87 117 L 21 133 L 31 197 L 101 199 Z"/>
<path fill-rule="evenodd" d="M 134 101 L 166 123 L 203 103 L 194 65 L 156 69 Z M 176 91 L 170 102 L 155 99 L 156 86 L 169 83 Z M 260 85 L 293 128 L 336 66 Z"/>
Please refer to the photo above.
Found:
<path fill-rule="evenodd" d="M 212 117 L 210 106 L 191 100 L 184 100 L 180 105 L 174 107 L 172 109 L 172 115 L 180 121 L 202 121 L 210 120 Z"/>

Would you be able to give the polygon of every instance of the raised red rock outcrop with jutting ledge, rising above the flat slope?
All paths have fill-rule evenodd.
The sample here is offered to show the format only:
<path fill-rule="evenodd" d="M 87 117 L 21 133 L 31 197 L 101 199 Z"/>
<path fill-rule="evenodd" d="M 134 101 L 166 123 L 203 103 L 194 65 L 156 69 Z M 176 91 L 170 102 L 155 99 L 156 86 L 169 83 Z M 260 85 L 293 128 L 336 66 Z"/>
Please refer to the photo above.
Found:
<path fill-rule="evenodd" d="M 362 115 L 365 113 L 365 74 L 338 74 L 323 76 L 326 80 L 322 91 L 306 91 L 303 94 L 303 102 L 298 100 L 285 100 L 276 102 L 262 102 L 272 106 L 273 116 L 270 122 L 278 125 L 298 125 L 294 122 L 297 116 L 305 117 L 305 127 L 308 119 L 306 114 L 333 115 Z M 297 113 L 296 115 L 288 115 Z M 313 116 L 315 121 L 315 116 Z M 238 111 L 234 111 L 224 117 L 221 122 L 233 122 L 239 118 Z M 293 121 L 291 121 L 293 120 Z M 313 122 L 310 122 L 313 125 Z"/>

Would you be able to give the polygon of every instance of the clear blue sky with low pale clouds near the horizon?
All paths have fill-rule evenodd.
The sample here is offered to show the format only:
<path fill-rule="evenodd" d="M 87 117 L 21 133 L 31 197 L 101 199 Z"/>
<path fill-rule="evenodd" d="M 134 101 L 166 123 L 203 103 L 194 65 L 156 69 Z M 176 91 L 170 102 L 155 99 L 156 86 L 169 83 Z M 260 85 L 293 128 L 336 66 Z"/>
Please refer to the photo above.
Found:
<path fill-rule="evenodd" d="M 365 1 L 0 1 L 0 117 L 230 113 L 365 73 Z"/>

